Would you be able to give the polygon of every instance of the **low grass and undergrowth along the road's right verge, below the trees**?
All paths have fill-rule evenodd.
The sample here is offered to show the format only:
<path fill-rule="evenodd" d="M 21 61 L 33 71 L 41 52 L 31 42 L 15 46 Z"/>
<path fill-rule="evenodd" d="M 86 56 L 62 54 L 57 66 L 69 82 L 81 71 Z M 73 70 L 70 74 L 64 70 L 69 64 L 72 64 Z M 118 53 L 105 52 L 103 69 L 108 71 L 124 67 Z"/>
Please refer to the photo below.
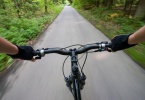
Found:
<path fill-rule="evenodd" d="M 134 33 L 145 25 L 145 22 L 134 19 L 131 15 L 124 15 L 121 10 L 97 7 L 89 10 L 75 8 L 110 39 L 116 35 Z M 145 69 L 145 43 L 140 43 L 124 51 Z"/>

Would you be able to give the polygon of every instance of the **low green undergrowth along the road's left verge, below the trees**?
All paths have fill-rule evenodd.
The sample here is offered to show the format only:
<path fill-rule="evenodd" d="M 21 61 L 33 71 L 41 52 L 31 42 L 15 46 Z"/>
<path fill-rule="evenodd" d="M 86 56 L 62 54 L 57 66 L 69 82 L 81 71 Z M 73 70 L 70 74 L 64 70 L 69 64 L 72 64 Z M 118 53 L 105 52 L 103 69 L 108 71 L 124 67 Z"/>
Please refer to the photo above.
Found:
<path fill-rule="evenodd" d="M 50 5 L 47 14 L 31 18 L 17 18 L 0 14 L 0 36 L 17 45 L 32 45 L 33 40 L 41 34 L 62 11 L 63 5 Z M 0 11 L 1 13 L 2 11 Z M 6 54 L 0 54 L 0 71 L 5 70 L 13 60 Z"/>

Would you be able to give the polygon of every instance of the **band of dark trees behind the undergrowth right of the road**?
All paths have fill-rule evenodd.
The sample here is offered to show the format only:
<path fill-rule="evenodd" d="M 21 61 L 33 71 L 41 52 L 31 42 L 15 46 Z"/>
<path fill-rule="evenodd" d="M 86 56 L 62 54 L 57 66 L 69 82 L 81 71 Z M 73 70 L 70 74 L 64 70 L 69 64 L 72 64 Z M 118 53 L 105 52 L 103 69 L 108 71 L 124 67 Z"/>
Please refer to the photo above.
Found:
<path fill-rule="evenodd" d="M 133 15 L 134 18 L 145 20 L 144 0 L 74 0 L 74 5 L 85 10 L 96 8 L 118 9 L 125 15 Z"/>

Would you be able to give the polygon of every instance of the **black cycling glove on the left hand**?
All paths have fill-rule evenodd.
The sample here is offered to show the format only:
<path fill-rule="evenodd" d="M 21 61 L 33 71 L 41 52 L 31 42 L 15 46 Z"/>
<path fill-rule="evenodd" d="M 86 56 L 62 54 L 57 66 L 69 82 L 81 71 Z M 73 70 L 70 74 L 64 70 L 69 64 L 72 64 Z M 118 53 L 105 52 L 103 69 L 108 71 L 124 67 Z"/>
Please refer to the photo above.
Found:
<path fill-rule="evenodd" d="M 18 54 L 9 55 L 13 59 L 23 59 L 23 60 L 32 60 L 34 49 L 31 46 L 17 46 L 19 49 Z"/>

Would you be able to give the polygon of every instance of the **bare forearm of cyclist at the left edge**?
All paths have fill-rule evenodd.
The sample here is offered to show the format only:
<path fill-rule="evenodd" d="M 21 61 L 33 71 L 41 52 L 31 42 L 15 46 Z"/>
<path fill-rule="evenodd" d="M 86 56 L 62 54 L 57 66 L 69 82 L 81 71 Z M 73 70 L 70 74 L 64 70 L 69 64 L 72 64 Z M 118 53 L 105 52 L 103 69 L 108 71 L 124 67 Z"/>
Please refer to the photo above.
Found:
<path fill-rule="evenodd" d="M 6 39 L 0 37 L 0 53 L 15 55 L 18 53 L 18 48 Z"/>

